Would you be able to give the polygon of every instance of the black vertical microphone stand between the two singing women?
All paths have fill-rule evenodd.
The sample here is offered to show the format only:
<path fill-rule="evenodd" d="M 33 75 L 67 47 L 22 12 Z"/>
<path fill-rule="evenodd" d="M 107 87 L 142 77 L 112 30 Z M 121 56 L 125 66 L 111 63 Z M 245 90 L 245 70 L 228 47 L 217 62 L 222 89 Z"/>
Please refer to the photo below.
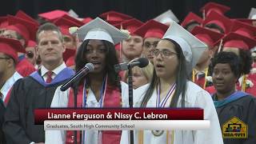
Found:
<path fill-rule="evenodd" d="M 128 65 L 129 105 L 134 106 L 132 66 Z M 134 130 L 130 130 L 130 144 L 134 144 Z"/>

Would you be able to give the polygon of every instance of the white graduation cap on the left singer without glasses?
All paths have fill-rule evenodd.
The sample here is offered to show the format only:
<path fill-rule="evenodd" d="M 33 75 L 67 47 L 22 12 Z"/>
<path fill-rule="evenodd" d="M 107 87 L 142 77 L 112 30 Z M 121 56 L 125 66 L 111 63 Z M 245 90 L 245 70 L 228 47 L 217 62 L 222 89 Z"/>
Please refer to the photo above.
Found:
<path fill-rule="evenodd" d="M 74 34 L 78 34 L 78 38 L 82 41 L 86 39 L 98 39 L 111 42 L 114 45 L 129 38 L 129 34 L 123 33 L 101 18 L 95 18 L 86 25 L 79 27 Z"/>

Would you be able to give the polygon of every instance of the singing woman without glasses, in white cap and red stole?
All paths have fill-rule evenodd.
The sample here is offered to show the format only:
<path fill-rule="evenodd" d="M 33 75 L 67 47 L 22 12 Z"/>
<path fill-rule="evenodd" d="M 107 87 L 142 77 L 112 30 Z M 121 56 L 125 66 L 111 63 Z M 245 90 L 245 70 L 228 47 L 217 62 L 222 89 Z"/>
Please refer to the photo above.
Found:
<path fill-rule="evenodd" d="M 78 82 L 77 106 L 128 107 L 128 86 L 119 80 L 118 73 L 114 70 L 114 65 L 118 64 L 114 45 L 129 38 L 129 34 L 123 34 L 101 18 L 95 18 L 81 26 L 76 34 L 82 40 L 82 45 L 74 60 L 75 71 L 82 70 L 86 63 L 94 65 L 94 70 Z M 62 94 L 67 94 L 68 107 L 74 107 L 74 92 L 72 89 L 66 91 Z M 82 144 L 119 144 L 121 134 L 120 130 L 84 130 L 82 133 L 78 132 L 77 141 Z M 66 132 L 66 143 L 74 143 L 73 131 Z"/>

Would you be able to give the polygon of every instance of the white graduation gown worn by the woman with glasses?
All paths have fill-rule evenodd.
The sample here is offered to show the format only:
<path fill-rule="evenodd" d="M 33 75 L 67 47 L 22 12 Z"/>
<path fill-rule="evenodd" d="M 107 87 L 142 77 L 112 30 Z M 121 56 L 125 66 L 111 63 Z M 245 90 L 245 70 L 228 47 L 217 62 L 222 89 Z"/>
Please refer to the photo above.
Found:
<path fill-rule="evenodd" d="M 218 123 L 218 115 L 214 108 L 214 103 L 205 90 L 200 86 L 194 84 L 194 82 L 186 83 L 186 94 L 185 94 L 185 106 L 186 107 L 200 107 L 204 110 L 204 119 L 210 120 L 210 128 L 206 130 L 174 130 L 174 144 L 222 144 L 222 133 Z M 146 88 L 147 89 L 147 88 Z M 145 89 L 145 90 L 146 90 Z M 142 89 L 139 91 L 134 90 L 135 94 L 145 94 Z M 143 97 L 142 97 L 143 98 Z M 142 102 L 136 102 L 138 107 Z M 157 91 L 154 90 L 152 97 L 147 102 L 146 107 L 156 107 Z M 182 106 L 181 96 L 178 99 L 178 107 Z M 143 130 L 143 143 L 144 144 L 155 144 L 155 143 L 166 143 L 166 130 L 161 136 L 154 136 L 151 130 Z M 128 132 L 127 134 L 128 135 Z M 139 134 L 138 131 L 134 132 L 134 143 L 138 144 Z M 125 144 L 128 139 L 122 135 L 122 143 Z"/>

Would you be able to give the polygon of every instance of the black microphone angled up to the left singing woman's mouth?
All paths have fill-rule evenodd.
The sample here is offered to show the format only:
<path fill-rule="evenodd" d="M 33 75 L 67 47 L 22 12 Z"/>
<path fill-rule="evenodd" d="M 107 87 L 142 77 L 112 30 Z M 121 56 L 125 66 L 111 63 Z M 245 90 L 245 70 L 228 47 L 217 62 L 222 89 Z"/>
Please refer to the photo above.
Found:
<path fill-rule="evenodd" d="M 67 90 L 68 88 L 70 88 L 70 86 L 78 81 L 78 79 L 84 77 L 86 74 L 90 73 L 91 71 L 94 70 L 94 64 L 92 63 L 86 63 L 86 66 L 84 66 L 81 70 L 78 71 L 78 73 L 74 74 L 74 76 L 72 78 L 70 78 L 69 81 L 67 81 L 66 83 L 64 83 L 62 86 L 61 86 L 61 90 L 62 91 L 65 91 Z"/>

